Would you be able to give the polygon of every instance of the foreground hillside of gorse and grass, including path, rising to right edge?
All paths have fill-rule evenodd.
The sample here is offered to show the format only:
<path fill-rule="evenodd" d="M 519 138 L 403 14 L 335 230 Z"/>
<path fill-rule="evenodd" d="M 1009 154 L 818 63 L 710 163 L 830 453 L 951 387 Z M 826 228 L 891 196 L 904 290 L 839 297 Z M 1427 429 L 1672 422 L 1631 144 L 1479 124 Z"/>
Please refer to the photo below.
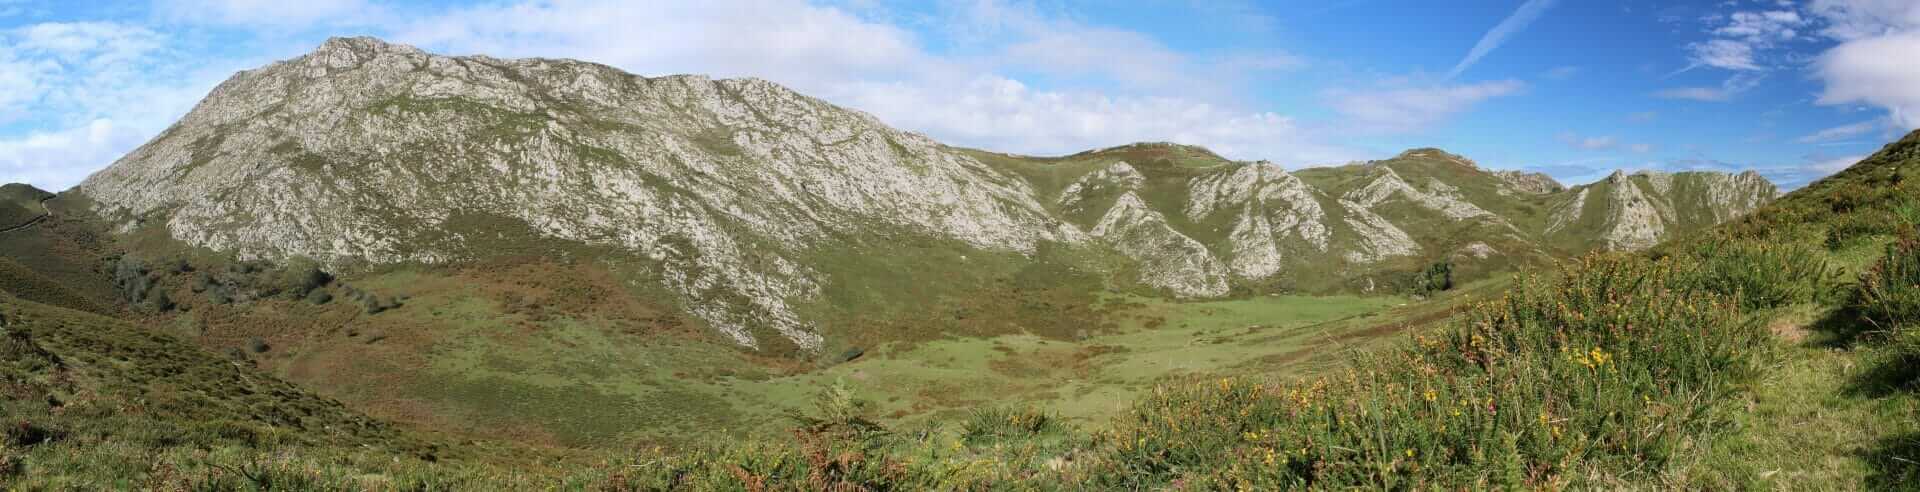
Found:
<path fill-rule="evenodd" d="M 330 457 L 340 452 L 334 448 L 276 446 L 267 461 L 265 450 L 165 461 L 179 465 L 169 471 L 177 475 L 88 469 L 69 482 L 15 477 L 29 477 L 29 486 L 236 484 L 242 473 L 228 469 L 240 467 L 246 477 L 307 490 L 428 482 L 641 490 L 1899 488 L 1920 477 L 1912 465 L 1920 457 L 1920 398 L 1912 394 L 1920 379 L 1907 367 L 1910 354 L 1920 354 L 1907 342 L 1920 327 L 1916 148 L 1920 133 L 1747 219 L 1651 254 L 1592 254 L 1555 273 L 1526 275 L 1505 294 L 1471 302 L 1448 323 L 1344 367 L 1169 382 L 1094 429 L 1018 407 L 981 407 L 948 430 L 889 429 L 872 421 L 872 402 L 835 382 L 816 409 L 801 413 L 791 440 L 766 444 L 618 452 L 543 469 L 340 459 Z M 25 306 L 10 308 L 10 319 L 46 309 L 8 306 Z M 33 329 L 33 336 L 42 331 Z M 15 352 L 21 346 L 12 344 Z M 205 357 L 192 354 L 182 352 Z M 134 359 L 132 367 L 144 363 L 154 361 Z M 61 440 L 40 436 L 46 432 L 10 434 L 10 446 L 27 446 L 25 469 L 69 463 L 54 457 L 69 450 Z M 12 455 L 21 454 L 10 448 L 8 459 L 17 459 Z"/>

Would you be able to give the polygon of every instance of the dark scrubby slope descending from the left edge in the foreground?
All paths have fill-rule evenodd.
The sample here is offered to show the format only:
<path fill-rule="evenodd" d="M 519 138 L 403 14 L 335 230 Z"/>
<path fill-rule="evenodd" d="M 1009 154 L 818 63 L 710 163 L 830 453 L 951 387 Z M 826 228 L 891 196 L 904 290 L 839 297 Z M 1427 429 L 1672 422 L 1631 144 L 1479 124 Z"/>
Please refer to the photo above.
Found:
<path fill-rule="evenodd" d="M 434 446 L 244 361 L 10 292 L 0 292 L 0 486 L 136 484 L 123 477 L 167 482 L 173 467 L 205 459 L 244 469 L 248 463 L 232 455 L 252 450 L 361 448 L 409 461 L 436 455 Z"/>

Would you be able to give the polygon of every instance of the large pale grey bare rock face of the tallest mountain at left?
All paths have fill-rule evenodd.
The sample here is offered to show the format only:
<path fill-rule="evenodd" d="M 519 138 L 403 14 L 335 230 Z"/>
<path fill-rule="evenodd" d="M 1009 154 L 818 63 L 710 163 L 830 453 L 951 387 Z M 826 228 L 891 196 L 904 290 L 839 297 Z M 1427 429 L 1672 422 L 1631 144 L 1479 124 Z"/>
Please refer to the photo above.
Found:
<path fill-rule="evenodd" d="M 1023 181 L 756 79 L 445 58 L 372 38 L 244 71 L 86 179 L 106 217 L 188 244 L 328 263 L 484 256 L 472 223 L 630 250 L 739 344 L 820 336 L 797 258 L 876 225 L 983 250 L 1079 240 Z M 743 302 L 697 302 L 708 292 Z"/>

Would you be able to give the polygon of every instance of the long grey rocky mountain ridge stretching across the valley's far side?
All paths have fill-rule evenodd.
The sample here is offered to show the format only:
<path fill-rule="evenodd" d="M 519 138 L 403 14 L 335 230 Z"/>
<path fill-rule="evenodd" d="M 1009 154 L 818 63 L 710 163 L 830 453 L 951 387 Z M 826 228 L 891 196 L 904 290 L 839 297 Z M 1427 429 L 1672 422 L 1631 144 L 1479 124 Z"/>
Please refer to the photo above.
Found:
<path fill-rule="evenodd" d="M 332 38 L 234 75 L 71 196 L 175 252 L 588 261 L 735 344 L 822 352 L 924 306 L 954 304 L 952 331 L 1071 332 L 1041 319 L 1100 288 L 1375 292 L 1434 263 L 1471 279 L 1645 248 L 1774 192 L 1751 173 L 1563 190 L 1430 148 L 1294 173 L 1179 144 L 1010 156 L 758 79 Z"/>

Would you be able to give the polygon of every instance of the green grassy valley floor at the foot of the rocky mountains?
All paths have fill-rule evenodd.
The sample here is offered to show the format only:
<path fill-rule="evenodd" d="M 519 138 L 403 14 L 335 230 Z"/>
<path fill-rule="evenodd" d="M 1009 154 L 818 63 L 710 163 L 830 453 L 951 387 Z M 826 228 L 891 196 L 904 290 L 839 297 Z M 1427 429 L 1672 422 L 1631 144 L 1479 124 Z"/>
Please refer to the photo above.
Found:
<path fill-rule="evenodd" d="M 624 331 L 605 317 L 509 313 L 486 292 L 413 271 L 353 284 L 405 306 L 342 319 L 382 334 L 275 340 L 273 371 L 374 415 L 470 436 L 559 446 L 689 444 L 770 436 L 835 382 L 887 425 L 1031 406 L 1075 423 L 1123 411 L 1156 384 L 1221 371 L 1288 373 L 1338 357 L 1409 317 L 1404 298 L 1260 296 L 1167 302 L 1110 294 L 1116 329 L 889 342 L 828 367 L 755 357 L 699 332 Z M 305 309 L 305 308 L 301 308 Z M 1373 329 L 1375 332 L 1363 332 Z M 227 336 L 238 338 L 238 336 Z"/>

